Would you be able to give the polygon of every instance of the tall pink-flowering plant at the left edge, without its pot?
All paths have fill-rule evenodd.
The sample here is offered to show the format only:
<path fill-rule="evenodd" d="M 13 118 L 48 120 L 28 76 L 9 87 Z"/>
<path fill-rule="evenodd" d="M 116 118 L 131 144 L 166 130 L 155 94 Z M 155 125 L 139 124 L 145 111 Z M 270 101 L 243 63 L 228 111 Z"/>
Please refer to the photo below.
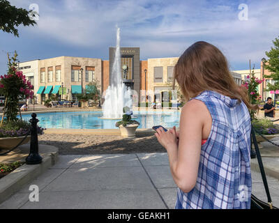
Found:
<path fill-rule="evenodd" d="M 0 76 L 0 91 L 6 98 L 3 116 L 6 114 L 8 121 L 17 120 L 17 112 L 20 110 L 18 106 L 19 100 L 32 99 L 34 95 L 31 90 L 33 88 L 31 83 L 21 71 L 17 71 L 17 52 L 15 52 L 12 59 L 8 54 L 8 75 Z"/>

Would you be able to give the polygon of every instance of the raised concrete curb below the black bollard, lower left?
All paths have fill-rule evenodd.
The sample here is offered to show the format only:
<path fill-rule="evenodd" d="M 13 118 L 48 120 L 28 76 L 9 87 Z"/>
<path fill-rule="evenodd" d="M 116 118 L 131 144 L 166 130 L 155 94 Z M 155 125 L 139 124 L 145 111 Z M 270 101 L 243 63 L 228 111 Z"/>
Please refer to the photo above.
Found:
<path fill-rule="evenodd" d="M 58 152 L 50 153 L 43 157 L 40 164 L 27 165 L 15 169 L 7 176 L 0 179 L 0 203 L 6 201 L 12 194 L 15 194 L 25 184 L 43 174 L 45 170 L 53 166 L 58 160 Z"/>

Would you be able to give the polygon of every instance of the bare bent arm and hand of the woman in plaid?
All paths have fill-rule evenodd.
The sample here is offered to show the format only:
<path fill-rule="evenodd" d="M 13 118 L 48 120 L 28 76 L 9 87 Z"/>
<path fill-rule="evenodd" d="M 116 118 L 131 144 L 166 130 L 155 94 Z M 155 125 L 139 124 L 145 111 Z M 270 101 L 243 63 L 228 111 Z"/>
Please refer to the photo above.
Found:
<path fill-rule="evenodd" d="M 199 100 L 190 100 L 184 105 L 180 117 L 179 146 L 175 129 L 167 132 L 158 130 L 156 133 L 158 141 L 167 150 L 174 182 L 183 192 L 190 192 L 197 182 L 204 109 L 207 109 L 206 105 Z"/>

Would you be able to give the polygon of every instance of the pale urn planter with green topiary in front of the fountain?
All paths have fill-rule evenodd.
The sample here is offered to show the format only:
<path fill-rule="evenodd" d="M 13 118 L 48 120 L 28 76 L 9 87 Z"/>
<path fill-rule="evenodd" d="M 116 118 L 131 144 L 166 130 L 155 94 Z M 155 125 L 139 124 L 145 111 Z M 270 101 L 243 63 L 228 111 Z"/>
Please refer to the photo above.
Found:
<path fill-rule="evenodd" d="M 115 126 L 119 127 L 121 131 L 121 136 L 125 138 L 134 138 L 135 130 L 139 127 L 140 123 L 138 121 L 132 120 L 131 116 L 133 114 L 132 111 L 125 111 L 126 108 L 123 108 L 123 116 L 122 120 L 116 122 Z"/>

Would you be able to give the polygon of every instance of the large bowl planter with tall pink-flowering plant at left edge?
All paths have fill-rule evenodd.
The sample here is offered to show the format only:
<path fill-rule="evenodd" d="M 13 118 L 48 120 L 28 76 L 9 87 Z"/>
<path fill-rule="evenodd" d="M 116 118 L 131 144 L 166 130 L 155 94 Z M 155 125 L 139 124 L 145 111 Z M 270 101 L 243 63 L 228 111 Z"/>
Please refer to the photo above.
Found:
<path fill-rule="evenodd" d="M 17 118 L 17 114 L 20 113 L 19 101 L 20 99 L 27 100 L 33 98 L 33 86 L 21 71 L 17 71 L 16 61 L 17 52 L 15 52 L 11 59 L 8 54 L 8 74 L 0 76 L 0 93 L 6 99 L 0 122 L 1 148 L 13 148 L 19 144 L 27 132 L 29 132 L 31 126 L 27 121 Z M 40 130 L 43 131 L 41 128 Z"/>

